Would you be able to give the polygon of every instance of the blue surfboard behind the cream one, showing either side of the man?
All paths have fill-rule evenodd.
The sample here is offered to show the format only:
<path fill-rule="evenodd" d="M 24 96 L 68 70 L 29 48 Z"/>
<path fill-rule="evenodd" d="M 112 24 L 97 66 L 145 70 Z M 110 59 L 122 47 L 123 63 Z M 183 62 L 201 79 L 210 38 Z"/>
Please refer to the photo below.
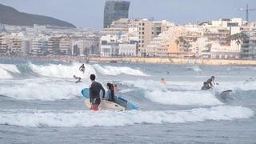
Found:
<path fill-rule="evenodd" d="M 88 87 L 83 89 L 81 93 L 83 97 L 90 98 L 90 89 Z M 131 102 L 128 102 L 125 98 L 122 98 L 120 96 L 114 96 L 114 103 L 118 104 L 119 106 L 125 107 L 126 110 L 138 110 L 138 106 L 134 105 Z"/>

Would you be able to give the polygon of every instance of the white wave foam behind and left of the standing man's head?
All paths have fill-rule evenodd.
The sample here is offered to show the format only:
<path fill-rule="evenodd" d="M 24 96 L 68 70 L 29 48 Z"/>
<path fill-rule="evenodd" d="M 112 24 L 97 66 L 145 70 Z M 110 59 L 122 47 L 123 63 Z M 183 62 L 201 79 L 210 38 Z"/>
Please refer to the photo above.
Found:
<path fill-rule="evenodd" d="M 79 67 L 82 64 L 74 63 L 71 66 L 66 66 L 62 64 L 50 64 L 50 65 L 34 65 L 32 63 L 29 64 L 31 70 L 35 73 L 44 75 L 47 77 L 55 77 L 55 78 L 72 78 L 73 75 L 76 75 L 81 78 L 89 78 L 90 74 L 96 74 L 94 68 L 90 65 L 85 65 L 86 70 L 84 73 L 79 70 Z"/>

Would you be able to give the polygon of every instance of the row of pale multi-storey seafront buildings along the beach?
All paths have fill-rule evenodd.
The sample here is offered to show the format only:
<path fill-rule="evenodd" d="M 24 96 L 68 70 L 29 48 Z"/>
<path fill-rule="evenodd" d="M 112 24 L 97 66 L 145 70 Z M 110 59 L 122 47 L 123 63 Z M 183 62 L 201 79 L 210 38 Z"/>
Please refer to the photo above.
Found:
<path fill-rule="evenodd" d="M 225 18 L 177 25 L 166 20 L 120 18 L 99 31 L 2 24 L 0 54 L 254 59 L 256 23 Z"/>

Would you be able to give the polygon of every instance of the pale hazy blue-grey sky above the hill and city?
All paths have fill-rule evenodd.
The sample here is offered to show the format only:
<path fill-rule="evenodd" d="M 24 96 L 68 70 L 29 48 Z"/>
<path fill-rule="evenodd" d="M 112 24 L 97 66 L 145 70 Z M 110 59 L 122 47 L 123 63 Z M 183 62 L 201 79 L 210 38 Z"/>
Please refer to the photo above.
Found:
<path fill-rule="evenodd" d="M 106 0 L 0 0 L 6 6 L 30 13 L 42 14 L 70 22 L 78 27 L 102 29 Z M 130 0 L 130 18 L 166 19 L 183 24 L 219 18 L 246 18 L 235 9 L 256 9 L 256 0 Z M 250 13 L 256 22 L 256 11 Z"/>

